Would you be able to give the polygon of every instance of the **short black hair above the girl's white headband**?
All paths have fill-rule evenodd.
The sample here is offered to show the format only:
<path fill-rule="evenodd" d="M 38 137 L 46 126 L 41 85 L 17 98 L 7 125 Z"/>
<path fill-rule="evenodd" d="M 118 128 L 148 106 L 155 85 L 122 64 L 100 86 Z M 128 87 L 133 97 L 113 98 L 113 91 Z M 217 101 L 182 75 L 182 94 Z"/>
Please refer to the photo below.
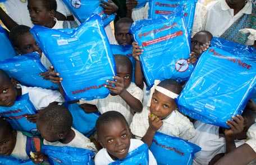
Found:
<path fill-rule="evenodd" d="M 157 86 L 161 86 L 162 88 L 170 90 L 176 94 L 180 94 L 182 91 L 182 85 L 173 79 L 163 80 Z"/>

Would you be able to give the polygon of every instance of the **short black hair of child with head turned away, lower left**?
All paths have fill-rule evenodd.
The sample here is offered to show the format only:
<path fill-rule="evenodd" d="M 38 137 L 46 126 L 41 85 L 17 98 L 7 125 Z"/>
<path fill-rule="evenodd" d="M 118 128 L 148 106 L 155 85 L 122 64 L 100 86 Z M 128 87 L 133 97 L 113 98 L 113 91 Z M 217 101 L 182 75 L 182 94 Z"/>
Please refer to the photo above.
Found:
<path fill-rule="evenodd" d="M 38 122 L 47 125 L 49 132 L 63 133 L 71 129 L 72 115 L 63 105 L 50 104 L 40 110 Z"/>

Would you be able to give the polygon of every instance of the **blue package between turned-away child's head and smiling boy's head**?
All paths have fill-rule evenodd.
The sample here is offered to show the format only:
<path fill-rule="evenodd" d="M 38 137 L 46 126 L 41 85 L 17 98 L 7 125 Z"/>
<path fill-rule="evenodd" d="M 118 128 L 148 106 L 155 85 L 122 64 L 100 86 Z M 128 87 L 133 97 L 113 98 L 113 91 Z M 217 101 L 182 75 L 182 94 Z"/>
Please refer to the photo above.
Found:
<path fill-rule="evenodd" d="M 85 113 L 79 104 L 69 104 L 68 110 L 73 117 L 74 129 L 81 132 L 85 136 L 90 136 L 95 131 L 96 121 L 99 118 L 97 113 Z"/>

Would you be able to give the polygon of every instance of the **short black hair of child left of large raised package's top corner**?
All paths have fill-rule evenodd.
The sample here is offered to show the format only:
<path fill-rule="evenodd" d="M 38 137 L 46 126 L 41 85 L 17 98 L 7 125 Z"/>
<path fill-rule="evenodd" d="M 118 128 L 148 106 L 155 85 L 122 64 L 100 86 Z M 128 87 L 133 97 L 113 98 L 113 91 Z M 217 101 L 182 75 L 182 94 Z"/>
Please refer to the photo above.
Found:
<path fill-rule="evenodd" d="M 29 30 L 30 30 L 29 26 L 25 26 L 25 25 L 17 25 L 11 29 L 9 33 L 9 38 L 13 47 L 19 47 L 17 42 L 19 36 L 29 33 Z"/>

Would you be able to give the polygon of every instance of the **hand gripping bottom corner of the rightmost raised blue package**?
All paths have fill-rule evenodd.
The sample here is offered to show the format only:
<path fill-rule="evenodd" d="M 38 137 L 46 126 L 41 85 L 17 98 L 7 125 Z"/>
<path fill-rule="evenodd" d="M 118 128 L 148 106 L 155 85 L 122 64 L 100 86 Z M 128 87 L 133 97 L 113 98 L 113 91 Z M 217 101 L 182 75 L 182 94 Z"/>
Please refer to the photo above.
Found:
<path fill-rule="evenodd" d="M 232 120 L 227 121 L 227 125 L 230 129 L 224 131 L 225 137 L 235 139 L 237 134 L 244 131 L 244 118 L 240 115 L 232 117 Z"/>

